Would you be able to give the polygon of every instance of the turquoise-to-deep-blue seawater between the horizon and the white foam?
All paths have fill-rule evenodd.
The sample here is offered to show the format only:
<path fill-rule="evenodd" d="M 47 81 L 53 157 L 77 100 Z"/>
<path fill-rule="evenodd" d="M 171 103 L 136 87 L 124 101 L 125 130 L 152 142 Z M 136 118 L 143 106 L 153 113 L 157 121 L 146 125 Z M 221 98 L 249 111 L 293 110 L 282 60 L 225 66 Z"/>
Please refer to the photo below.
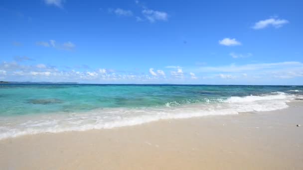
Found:
<path fill-rule="evenodd" d="M 299 95 L 303 86 L 2 84 L 0 116 L 220 102 L 231 96 L 276 91 Z"/>

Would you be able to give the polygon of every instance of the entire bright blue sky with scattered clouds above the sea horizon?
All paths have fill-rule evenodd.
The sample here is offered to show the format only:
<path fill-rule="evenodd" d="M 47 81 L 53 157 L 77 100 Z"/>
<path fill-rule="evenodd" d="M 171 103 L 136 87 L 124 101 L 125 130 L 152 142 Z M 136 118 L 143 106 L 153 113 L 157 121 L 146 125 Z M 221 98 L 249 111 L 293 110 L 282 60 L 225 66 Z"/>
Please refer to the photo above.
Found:
<path fill-rule="evenodd" d="M 1 0 L 0 81 L 303 85 L 302 0 Z"/>

